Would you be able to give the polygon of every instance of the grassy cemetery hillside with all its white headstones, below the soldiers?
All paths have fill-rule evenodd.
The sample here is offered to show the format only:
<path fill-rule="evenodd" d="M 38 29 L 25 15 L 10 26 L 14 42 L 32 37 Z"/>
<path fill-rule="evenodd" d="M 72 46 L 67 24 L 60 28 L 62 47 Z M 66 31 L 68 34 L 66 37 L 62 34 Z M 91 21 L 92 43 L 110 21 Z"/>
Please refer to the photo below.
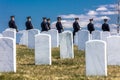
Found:
<path fill-rule="evenodd" d="M 119 44 L 109 31 L 73 38 L 69 30 L 8 28 L 0 35 L 0 80 L 119 80 Z"/>

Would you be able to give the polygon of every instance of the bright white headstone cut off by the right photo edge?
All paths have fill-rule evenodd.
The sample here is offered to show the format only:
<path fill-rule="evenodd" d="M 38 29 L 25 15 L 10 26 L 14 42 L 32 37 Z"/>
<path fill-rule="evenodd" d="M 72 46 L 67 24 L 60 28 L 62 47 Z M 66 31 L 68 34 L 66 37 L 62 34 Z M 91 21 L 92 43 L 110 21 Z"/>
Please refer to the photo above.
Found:
<path fill-rule="evenodd" d="M 120 36 L 107 38 L 108 65 L 120 65 Z"/>

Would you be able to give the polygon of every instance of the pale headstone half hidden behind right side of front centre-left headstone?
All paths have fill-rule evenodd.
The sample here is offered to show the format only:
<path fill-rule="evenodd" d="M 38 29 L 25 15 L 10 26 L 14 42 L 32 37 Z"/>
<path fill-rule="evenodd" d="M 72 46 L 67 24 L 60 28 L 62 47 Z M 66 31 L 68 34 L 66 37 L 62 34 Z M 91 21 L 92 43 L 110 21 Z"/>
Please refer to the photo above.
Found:
<path fill-rule="evenodd" d="M 46 33 L 51 35 L 51 42 L 52 42 L 52 48 L 58 47 L 59 46 L 59 35 L 58 35 L 58 30 L 56 29 L 51 29 L 49 31 L 44 31 L 42 33 Z"/>

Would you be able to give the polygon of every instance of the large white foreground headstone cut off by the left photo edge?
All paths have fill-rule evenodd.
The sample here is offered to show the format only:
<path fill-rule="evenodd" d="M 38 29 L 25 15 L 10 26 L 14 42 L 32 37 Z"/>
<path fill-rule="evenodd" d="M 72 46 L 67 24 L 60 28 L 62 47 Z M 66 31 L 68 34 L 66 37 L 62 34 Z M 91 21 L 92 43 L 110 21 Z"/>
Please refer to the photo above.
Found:
<path fill-rule="evenodd" d="M 16 72 L 15 39 L 0 37 L 0 72 Z"/>

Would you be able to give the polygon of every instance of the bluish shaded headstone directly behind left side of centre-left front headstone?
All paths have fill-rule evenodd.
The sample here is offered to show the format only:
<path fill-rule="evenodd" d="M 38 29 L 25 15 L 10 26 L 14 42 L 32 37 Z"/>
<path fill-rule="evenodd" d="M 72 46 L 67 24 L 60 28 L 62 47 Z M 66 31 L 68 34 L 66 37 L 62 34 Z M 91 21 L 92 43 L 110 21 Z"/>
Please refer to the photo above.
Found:
<path fill-rule="evenodd" d="M 35 49 L 35 35 L 39 34 L 37 29 L 28 30 L 28 48 Z"/>

